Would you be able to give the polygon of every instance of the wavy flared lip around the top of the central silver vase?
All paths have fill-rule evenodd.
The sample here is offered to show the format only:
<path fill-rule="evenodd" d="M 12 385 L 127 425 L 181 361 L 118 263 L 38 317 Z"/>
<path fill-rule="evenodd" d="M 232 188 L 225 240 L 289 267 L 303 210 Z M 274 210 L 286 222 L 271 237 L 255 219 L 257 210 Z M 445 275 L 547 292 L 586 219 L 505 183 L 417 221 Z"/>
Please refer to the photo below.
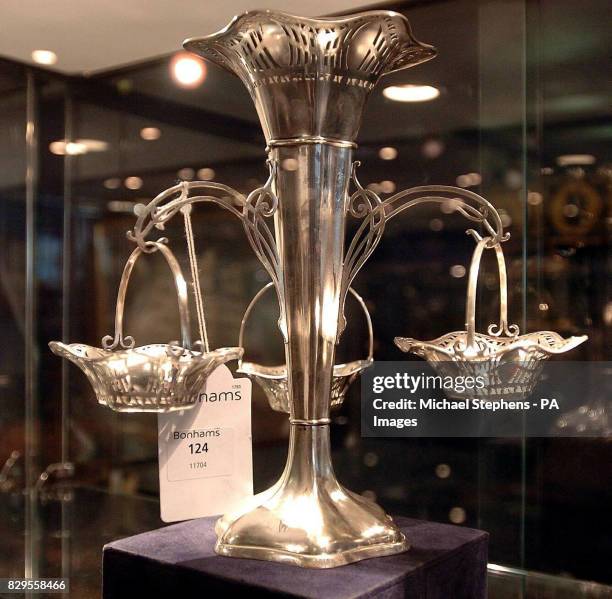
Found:
<path fill-rule="evenodd" d="M 228 25 L 216 33 L 186 39 L 183 47 L 242 77 L 243 73 L 239 69 L 244 69 L 244 65 L 233 64 L 224 52 L 219 51 L 219 48 L 230 50 L 232 39 L 237 34 L 251 32 L 255 24 L 306 25 L 315 30 L 329 31 L 335 26 L 343 27 L 353 23 L 358 24 L 360 21 L 368 24 L 383 20 L 391 20 L 395 26 L 394 36 L 401 36 L 404 39 L 396 56 L 382 68 L 380 75 L 421 64 L 436 56 L 437 51 L 433 46 L 419 42 L 413 36 L 410 23 L 404 15 L 389 10 L 364 11 L 344 17 L 318 18 L 300 17 L 276 10 L 252 10 L 234 16 Z"/>

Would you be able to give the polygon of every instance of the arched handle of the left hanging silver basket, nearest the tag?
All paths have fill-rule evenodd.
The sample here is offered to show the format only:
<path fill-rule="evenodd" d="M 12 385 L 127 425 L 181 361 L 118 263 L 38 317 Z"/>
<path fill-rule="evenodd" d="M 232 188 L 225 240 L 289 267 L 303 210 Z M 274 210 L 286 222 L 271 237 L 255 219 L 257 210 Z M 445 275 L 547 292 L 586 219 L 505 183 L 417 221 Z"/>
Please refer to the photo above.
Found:
<path fill-rule="evenodd" d="M 134 269 L 134 265 L 140 255 L 143 253 L 154 253 L 159 250 L 162 256 L 166 259 L 172 276 L 174 279 L 174 287 L 176 288 L 176 295 L 179 306 L 179 319 L 181 324 L 181 339 L 182 347 L 185 349 L 191 349 L 191 338 L 190 338 L 190 323 L 189 323 L 189 301 L 187 299 L 187 283 L 185 277 L 181 271 L 181 267 L 174 257 L 174 254 L 170 248 L 160 241 L 147 241 L 146 251 L 138 246 L 128 258 L 128 261 L 123 268 L 123 274 L 121 275 L 121 282 L 119 283 L 119 292 L 117 294 L 117 305 L 115 307 L 115 336 L 106 335 L 102 338 L 102 347 L 107 350 L 114 350 L 117 348 L 121 349 L 132 349 L 135 345 L 134 337 L 123 336 L 123 313 L 125 310 L 125 296 L 127 293 L 127 287 L 130 280 L 130 275 Z"/>

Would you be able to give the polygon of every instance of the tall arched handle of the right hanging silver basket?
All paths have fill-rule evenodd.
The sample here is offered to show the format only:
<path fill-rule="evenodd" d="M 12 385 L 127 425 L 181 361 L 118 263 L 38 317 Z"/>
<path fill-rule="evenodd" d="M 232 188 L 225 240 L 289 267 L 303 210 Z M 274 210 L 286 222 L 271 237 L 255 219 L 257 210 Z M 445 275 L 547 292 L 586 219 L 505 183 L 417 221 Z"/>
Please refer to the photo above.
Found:
<path fill-rule="evenodd" d="M 468 348 L 478 349 L 478 344 L 476 343 L 476 290 L 480 273 L 480 260 L 485 249 L 495 249 L 497 268 L 499 270 L 499 323 L 489 325 L 487 333 L 493 337 L 499 337 L 502 333 L 509 337 L 515 337 L 519 334 L 519 327 L 517 325 L 508 325 L 508 275 L 506 273 L 504 252 L 499 243 L 489 245 L 491 241 L 492 237 L 484 237 L 478 242 L 470 263 L 468 295 L 465 308 L 466 347 Z"/>

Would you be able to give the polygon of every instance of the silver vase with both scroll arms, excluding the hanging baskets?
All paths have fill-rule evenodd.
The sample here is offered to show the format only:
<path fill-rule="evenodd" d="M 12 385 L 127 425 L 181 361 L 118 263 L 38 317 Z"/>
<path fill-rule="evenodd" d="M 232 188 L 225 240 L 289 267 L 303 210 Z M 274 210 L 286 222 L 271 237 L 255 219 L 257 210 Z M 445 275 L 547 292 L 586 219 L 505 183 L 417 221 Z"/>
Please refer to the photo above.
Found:
<path fill-rule="evenodd" d="M 345 385 L 366 365 L 342 370 L 346 365 L 335 365 L 336 344 L 346 327 L 351 284 L 390 219 L 438 204 L 484 231 L 487 241 L 479 248 L 508 238 L 495 208 L 473 192 L 428 185 L 383 201 L 357 179 L 353 152 L 369 93 L 380 77 L 430 60 L 436 51 L 414 38 L 404 16 L 390 11 L 333 19 L 247 12 L 184 46 L 240 77 L 248 89 L 267 142 L 269 177 L 247 196 L 208 181 L 175 185 L 142 207 L 128 237 L 146 251 L 155 229 L 178 214 L 186 218 L 195 204 L 228 210 L 270 275 L 285 343 L 285 366 L 273 376 L 262 376 L 261 366 L 249 367 L 249 374 L 274 380 L 282 390 L 286 404 L 277 407 L 289 413 L 287 463 L 275 485 L 218 520 L 216 551 L 311 568 L 405 551 L 409 539 L 393 520 L 337 481 L 330 409 L 339 377 Z M 359 225 L 345 240 L 348 219 Z M 189 232 L 187 239 L 193 258 Z M 469 347 L 476 348 L 480 338 L 471 339 Z M 246 363 L 242 369 L 248 370 Z"/>

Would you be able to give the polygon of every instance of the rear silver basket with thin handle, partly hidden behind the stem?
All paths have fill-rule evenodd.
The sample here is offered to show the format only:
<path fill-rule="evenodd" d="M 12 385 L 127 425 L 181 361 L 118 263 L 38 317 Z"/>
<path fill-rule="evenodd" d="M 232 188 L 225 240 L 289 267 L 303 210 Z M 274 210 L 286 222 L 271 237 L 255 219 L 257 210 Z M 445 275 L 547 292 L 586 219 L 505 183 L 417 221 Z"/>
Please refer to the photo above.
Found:
<path fill-rule="evenodd" d="M 270 282 L 265 287 L 262 287 L 253 297 L 251 303 L 247 306 L 240 325 L 240 335 L 238 338 L 238 344 L 240 347 L 244 347 L 244 330 L 255 304 L 273 285 L 274 283 Z M 362 360 L 347 362 L 345 364 L 336 364 L 334 366 L 330 408 L 336 408 L 342 405 L 342 402 L 346 397 L 346 392 L 351 386 L 351 383 L 361 374 L 363 370 L 371 366 L 374 360 L 374 333 L 370 313 L 368 312 L 368 308 L 361 296 L 359 296 L 353 288 L 350 288 L 349 291 L 361 306 L 366 317 L 369 336 L 368 357 Z M 263 366 L 262 364 L 256 364 L 254 362 L 243 362 L 242 358 L 240 358 L 238 360 L 237 372 L 246 374 L 257 382 L 257 384 L 264 390 L 266 397 L 268 398 L 268 403 L 273 410 L 277 412 L 285 412 L 287 414 L 289 413 L 289 389 L 287 386 L 287 366 L 285 364 L 280 366 Z"/>

